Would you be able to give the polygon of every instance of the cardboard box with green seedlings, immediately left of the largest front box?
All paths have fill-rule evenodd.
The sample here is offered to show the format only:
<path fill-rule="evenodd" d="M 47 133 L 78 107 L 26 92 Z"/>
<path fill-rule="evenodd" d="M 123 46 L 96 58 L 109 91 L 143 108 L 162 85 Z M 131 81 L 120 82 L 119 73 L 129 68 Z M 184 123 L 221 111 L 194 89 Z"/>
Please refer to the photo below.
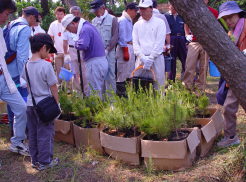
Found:
<path fill-rule="evenodd" d="M 141 133 L 137 123 L 142 119 L 143 90 L 136 93 L 127 86 L 127 98 L 113 95 L 107 107 L 97 115 L 106 129 L 100 132 L 104 151 L 111 157 L 131 165 L 140 164 Z M 142 100 L 141 100 L 142 98 Z"/>

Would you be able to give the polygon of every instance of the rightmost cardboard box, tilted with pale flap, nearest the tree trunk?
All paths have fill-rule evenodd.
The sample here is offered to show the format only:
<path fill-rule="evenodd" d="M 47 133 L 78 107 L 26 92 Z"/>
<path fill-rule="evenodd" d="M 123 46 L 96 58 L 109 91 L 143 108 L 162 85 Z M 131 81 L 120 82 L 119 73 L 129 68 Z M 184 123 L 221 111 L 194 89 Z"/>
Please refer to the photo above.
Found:
<path fill-rule="evenodd" d="M 197 155 L 204 157 L 213 147 L 216 138 L 223 129 L 224 119 L 222 111 L 217 109 L 210 118 L 195 118 L 195 123 L 202 126 L 198 132 L 201 143 L 198 147 Z"/>

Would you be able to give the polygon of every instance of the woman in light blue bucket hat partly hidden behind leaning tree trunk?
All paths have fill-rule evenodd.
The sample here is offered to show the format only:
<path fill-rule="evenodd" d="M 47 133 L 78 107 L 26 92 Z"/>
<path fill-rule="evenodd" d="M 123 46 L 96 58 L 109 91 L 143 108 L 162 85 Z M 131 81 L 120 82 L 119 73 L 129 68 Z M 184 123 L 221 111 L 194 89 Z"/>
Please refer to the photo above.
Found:
<path fill-rule="evenodd" d="M 223 18 L 226 22 L 229 33 L 233 37 L 233 42 L 240 51 L 246 51 L 246 12 L 244 12 L 235 1 L 227 1 L 220 5 L 218 19 Z M 239 100 L 230 89 L 224 103 L 224 138 L 218 142 L 219 147 L 228 147 L 239 144 L 240 139 L 236 133 L 237 111 Z"/>

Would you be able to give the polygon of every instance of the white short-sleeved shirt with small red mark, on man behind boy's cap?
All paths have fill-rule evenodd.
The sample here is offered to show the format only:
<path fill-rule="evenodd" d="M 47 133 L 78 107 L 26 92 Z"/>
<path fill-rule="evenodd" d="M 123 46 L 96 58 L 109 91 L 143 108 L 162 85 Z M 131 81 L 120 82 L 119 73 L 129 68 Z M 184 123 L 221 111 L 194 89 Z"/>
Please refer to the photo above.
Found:
<path fill-rule="evenodd" d="M 63 50 L 63 33 L 65 28 L 62 26 L 58 20 L 50 24 L 48 34 L 54 37 L 54 45 L 57 50 L 57 53 L 64 53 Z"/>

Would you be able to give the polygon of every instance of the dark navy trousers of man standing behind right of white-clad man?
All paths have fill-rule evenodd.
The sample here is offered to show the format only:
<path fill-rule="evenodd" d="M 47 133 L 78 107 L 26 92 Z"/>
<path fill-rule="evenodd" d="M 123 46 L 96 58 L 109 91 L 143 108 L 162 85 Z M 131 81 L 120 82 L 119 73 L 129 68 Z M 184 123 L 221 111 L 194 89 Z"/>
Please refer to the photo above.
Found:
<path fill-rule="evenodd" d="M 168 79 L 175 81 L 176 77 L 176 59 L 179 58 L 182 64 L 183 75 L 185 72 L 185 60 L 187 56 L 186 39 L 185 36 L 171 36 L 171 56 L 173 57 L 171 64 L 171 72 L 169 72 Z M 181 75 L 181 77 L 182 77 Z"/>

